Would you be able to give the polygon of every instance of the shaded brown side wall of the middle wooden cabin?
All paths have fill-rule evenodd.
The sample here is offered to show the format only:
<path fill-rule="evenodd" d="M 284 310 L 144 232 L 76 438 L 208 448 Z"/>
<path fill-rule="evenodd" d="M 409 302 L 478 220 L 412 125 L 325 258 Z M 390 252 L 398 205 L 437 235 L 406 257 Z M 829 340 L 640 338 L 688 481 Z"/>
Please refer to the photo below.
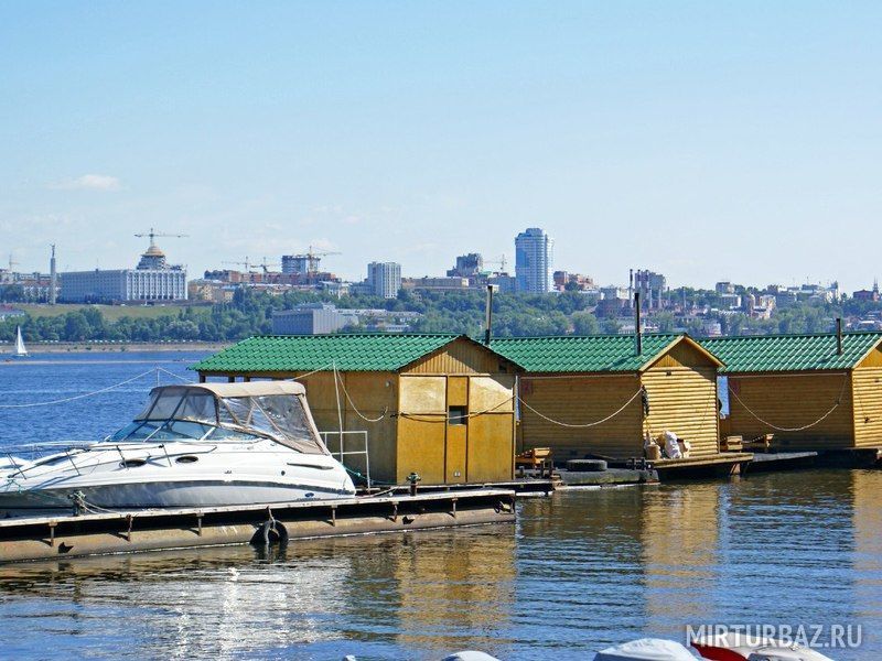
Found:
<path fill-rule="evenodd" d="M 639 389 L 636 375 L 526 375 L 520 397 L 557 422 L 583 425 L 617 411 Z M 556 460 L 599 454 L 616 458 L 642 457 L 643 410 L 639 398 L 596 426 L 569 427 L 544 420 L 527 408 L 520 411 L 523 449 L 550 447 Z"/>

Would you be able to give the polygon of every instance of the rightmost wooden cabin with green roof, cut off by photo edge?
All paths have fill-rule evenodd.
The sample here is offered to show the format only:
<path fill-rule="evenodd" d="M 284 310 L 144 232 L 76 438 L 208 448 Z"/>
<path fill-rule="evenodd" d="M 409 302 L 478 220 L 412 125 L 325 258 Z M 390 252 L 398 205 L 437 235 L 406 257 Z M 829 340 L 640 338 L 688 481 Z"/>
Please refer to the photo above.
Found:
<path fill-rule="evenodd" d="M 727 433 L 783 449 L 882 447 L 882 333 L 702 340 L 725 368 Z"/>

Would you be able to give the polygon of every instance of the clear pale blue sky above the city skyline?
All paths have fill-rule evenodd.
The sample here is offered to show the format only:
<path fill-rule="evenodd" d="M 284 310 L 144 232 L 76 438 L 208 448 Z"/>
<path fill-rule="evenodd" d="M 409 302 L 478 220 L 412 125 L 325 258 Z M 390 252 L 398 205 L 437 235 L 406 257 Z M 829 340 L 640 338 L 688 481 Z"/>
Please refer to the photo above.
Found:
<path fill-rule="evenodd" d="M 0 3 L 0 267 L 882 275 L 882 3 Z M 227 264 L 227 268 L 236 268 Z"/>

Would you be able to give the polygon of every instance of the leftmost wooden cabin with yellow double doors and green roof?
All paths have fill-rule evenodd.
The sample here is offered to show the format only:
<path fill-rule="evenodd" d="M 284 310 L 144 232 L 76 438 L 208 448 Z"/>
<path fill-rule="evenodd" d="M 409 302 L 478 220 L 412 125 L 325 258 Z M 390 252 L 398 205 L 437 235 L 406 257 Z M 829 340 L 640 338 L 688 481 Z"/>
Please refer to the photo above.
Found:
<path fill-rule="evenodd" d="M 456 335 L 353 334 L 252 337 L 193 366 L 202 380 L 295 379 L 315 423 L 340 449 L 340 431 L 366 431 L 373 479 L 401 484 L 513 478 L 515 383 L 520 370 Z M 345 449 L 363 435 L 344 434 Z M 364 457 L 344 456 L 364 473 Z"/>

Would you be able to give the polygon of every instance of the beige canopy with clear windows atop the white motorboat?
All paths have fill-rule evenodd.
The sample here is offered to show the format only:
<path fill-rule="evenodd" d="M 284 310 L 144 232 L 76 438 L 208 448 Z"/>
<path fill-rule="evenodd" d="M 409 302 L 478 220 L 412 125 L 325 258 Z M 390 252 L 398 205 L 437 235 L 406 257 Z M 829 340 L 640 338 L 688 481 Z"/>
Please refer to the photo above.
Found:
<path fill-rule="evenodd" d="M 330 454 L 306 391 L 291 381 L 161 386 L 136 421 L 184 421 L 251 432 L 305 454 Z"/>

